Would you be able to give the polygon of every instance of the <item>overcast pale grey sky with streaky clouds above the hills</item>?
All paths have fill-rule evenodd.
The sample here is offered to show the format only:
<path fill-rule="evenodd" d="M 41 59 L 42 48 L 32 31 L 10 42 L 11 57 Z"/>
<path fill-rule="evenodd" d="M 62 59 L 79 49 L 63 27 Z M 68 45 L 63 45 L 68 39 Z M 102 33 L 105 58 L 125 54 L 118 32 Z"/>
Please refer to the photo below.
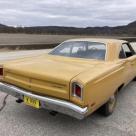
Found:
<path fill-rule="evenodd" d="M 9 26 L 117 26 L 136 20 L 136 0 L 0 0 Z"/>

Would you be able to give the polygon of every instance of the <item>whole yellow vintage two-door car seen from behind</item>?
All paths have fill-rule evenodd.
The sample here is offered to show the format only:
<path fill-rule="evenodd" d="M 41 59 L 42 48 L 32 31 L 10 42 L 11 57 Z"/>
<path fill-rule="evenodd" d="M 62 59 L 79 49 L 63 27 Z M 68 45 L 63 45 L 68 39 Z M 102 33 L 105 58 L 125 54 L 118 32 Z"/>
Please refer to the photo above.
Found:
<path fill-rule="evenodd" d="M 48 54 L 5 62 L 0 91 L 17 102 L 83 119 L 114 111 L 118 92 L 136 77 L 136 54 L 127 41 L 73 39 Z"/>

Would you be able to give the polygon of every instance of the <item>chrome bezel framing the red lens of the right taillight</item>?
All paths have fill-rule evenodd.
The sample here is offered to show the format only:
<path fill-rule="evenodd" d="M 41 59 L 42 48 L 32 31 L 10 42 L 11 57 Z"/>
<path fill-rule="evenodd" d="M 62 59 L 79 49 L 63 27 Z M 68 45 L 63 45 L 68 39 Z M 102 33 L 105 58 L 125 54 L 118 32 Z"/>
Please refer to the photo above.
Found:
<path fill-rule="evenodd" d="M 76 94 L 76 86 L 80 87 L 81 89 L 81 97 L 79 97 L 77 94 Z M 79 100 L 83 100 L 83 85 L 81 85 L 80 83 L 78 82 L 73 82 L 72 83 L 72 96 L 73 97 L 76 97 L 77 99 Z"/>

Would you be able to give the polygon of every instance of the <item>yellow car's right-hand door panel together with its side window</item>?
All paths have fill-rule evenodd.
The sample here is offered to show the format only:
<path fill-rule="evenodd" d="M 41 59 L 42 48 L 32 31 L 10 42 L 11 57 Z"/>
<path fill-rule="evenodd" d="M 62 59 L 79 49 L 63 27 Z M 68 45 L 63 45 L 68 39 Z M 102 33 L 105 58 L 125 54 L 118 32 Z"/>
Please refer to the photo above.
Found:
<path fill-rule="evenodd" d="M 136 54 L 133 47 L 129 43 L 123 43 L 120 58 L 125 60 L 125 82 L 130 82 L 136 77 Z"/>

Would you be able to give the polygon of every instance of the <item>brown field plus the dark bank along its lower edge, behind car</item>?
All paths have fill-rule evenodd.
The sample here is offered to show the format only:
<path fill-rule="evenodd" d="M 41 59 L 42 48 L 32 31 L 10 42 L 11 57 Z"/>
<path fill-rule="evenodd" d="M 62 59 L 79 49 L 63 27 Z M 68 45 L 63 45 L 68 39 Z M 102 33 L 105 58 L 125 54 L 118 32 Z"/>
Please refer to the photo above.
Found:
<path fill-rule="evenodd" d="M 52 48 L 56 46 L 56 44 L 61 43 L 67 39 L 89 37 L 94 38 L 94 36 L 80 35 L 0 34 L 0 51 L 43 48 L 47 49 Z"/>

